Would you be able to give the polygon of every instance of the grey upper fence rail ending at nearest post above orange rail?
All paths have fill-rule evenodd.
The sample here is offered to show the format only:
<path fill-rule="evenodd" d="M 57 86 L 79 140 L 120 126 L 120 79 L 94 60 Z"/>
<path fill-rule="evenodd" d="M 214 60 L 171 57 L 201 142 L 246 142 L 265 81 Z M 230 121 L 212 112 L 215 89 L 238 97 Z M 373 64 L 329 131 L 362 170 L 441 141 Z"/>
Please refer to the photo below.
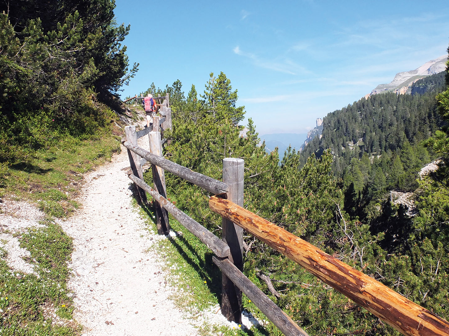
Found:
<path fill-rule="evenodd" d="M 176 164 L 170 160 L 151 154 L 149 151 L 146 151 L 142 147 L 135 146 L 131 142 L 125 141 L 123 142 L 123 146 L 128 148 L 130 151 L 133 151 L 134 153 L 140 155 L 151 164 L 155 164 L 156 166 L 159 166 L 171 172 L 172 174 L 175 174 L 176 176 L 179 176 L 186 181 L 193 183 L 194 185 L 198 185 L 199 187 L 207 190 L 212 194 L 221 195 L 227 193 L 229 190 L 228 185 L 224 182 L 200 174 L 199 172 L 194 172 L 189 168 L 181 166 L 180 164 Z"/>

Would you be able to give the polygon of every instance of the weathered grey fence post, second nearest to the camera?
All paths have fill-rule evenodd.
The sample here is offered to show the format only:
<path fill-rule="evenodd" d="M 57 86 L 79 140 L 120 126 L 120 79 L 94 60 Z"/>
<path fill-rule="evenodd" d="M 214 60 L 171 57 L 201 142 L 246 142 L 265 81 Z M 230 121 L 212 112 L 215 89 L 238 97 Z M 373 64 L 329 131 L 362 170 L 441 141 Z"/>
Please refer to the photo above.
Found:
<path fill-rule="evenodd" d="M 159 131 L 159 116 L 153 117 L 153 130 L 149 133 L 150 137 L 150 152 L 154 155 L 162 157 L 161 133 Z M 167 198 L 167 189 L 165 188 L 165 174 L 164 170 L 154 164 L 151 165 L 153 172 L 154 190 Z M 168 212 L 161 205 L 154 201 L 154 208 L 156 213 L 156 226 L 158 234 L 169 234 L 170 224 L 168 223 Z"/>

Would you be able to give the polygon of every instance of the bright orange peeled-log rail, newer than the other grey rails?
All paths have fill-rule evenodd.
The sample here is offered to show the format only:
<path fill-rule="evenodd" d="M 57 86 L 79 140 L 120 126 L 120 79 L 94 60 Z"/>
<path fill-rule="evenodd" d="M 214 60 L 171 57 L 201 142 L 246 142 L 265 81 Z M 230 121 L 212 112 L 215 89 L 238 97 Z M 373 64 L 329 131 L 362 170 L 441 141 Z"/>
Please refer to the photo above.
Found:
<path fill-rule="evenodd" d="M 404 335 L 449 335 L 449 323 L 445 319 L 276 224 L 223 198 L 212 196 L 209 207 L 299 263 Z"/>

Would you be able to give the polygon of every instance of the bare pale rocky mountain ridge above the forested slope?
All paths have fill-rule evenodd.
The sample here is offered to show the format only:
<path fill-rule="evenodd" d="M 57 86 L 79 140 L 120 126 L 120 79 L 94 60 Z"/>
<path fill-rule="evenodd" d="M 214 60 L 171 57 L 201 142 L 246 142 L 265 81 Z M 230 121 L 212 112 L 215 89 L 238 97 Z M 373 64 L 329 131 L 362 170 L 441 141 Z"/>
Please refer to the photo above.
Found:
<path fill-rule="evenodd" d="M 370 94 L 366 95 L 365 98 L 368 98 L 370 95 L 376 95 L 386 91 L 392 91 L 401 95 L 411 93 L 411 86 L 414 82 L 435 73 L 445 71 L 447 60 L 448 56 L 440 56 L 435 60 L 429 60 L 414 70 L 396 73 L 391 82 L 388 84 L 379 84 L 374 88 L 374 90 L 371 91 Z"/>

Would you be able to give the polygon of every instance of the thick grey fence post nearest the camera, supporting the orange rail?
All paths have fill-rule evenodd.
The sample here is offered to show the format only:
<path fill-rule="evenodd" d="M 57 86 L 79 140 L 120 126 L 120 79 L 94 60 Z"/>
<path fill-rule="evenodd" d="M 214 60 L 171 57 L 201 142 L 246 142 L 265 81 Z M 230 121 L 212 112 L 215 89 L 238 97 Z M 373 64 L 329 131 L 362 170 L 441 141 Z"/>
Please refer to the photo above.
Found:
<path fill-rule="evenodd" d="M 223 159 L 223 182 L 229 186 L 229 201 L 243 206 L 243 159 Z M 243 271 L 243 229 L 232 221 L 222 219 L 223 241 L 230 249 L 229 260 Z M 235 323 L 242 323 L 242 292 L 222 274 L 221 313 Z"/>

